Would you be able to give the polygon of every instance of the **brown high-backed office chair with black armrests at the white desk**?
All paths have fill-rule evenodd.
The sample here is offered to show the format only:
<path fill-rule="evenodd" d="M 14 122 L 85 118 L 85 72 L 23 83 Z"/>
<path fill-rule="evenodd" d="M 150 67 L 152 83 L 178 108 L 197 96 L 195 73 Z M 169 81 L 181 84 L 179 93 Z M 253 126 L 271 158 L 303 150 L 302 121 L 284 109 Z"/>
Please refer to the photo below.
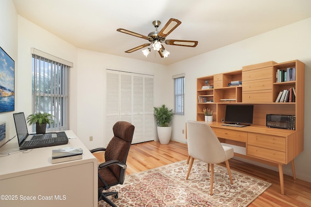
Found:
<path fill-rule="evenodd" d="M 112 207 L 117 206 L 107 196 L 115 195 L 115 198 L 118 198 L 118 192 L 107 192 L 106 190 L 124 182 L 126 159 L 132 143 L 134 129 L 134 125 L 119 121 L 113 126 L 114 136 L 107 147 L 91 150 L 91 153 L 105 151 L 105 162 L 98 166 L 98 201 L 104 200 Z"/>

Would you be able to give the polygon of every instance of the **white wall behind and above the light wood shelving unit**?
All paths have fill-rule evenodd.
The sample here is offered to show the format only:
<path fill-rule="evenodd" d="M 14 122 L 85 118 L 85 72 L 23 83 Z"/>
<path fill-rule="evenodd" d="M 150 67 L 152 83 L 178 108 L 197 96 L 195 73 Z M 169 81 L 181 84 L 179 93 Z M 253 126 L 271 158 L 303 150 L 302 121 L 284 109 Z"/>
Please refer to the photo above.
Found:
<path fill-rule="evenodd" d="M 196 78 L 242 69 L 242 66 L 267 61 L 305 63 L 304 151 L 295 159 L 297 178 L 311 182 L 311 18 L 260 34 L 235 44 L 169 65 L 169 76 L 185 73 L 185 116 L 173 120 L 173 140 L 185 143 L 182 129 L 187 120 L 196 120 Z M 200 43 L 199 43 L 200 44 Z M 173 92 L 171 94 L 173 96 Z M 272 168 L 278 171 L 276 168 Z M 290 164 L 284 173 L 292 175 Z"/>

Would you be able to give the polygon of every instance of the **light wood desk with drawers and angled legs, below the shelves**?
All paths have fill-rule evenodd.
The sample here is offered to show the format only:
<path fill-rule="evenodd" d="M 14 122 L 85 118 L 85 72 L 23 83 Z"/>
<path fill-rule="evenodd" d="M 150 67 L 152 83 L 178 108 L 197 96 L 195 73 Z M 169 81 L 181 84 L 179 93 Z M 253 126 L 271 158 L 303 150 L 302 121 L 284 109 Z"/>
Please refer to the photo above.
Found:
<path fill-rule="evenodd" d="M 277 166 L 281 194 L 284 194 L 284 164 L 291 162 L 293 178 L 296 179 L 294 158 L 303 151 L 303 129 L 293 131 L 254 125 L 227 127 L 217 122 L 208 125 L 220 142 L 246 148 L 246 155 L 235 153 L 235 156 Z"/>

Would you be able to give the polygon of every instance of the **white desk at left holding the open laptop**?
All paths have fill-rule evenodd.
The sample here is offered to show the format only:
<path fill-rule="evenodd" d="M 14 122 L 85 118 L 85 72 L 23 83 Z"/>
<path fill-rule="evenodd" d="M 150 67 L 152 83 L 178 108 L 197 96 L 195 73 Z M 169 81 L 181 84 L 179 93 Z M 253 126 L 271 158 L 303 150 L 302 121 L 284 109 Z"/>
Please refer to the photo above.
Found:
<path fill-rule="evenodd" d="M 0 157 L 1 207 L 98 206 L 97 159 L 71 130 L 66 134 L 75 137 L 66 145 Z M 82 148 L 83 158 L 52 164 L 52 149 L 64 147 Z M 2 146 L 0 153 L 12 150 L 19 150 L 17 138 Z"/>

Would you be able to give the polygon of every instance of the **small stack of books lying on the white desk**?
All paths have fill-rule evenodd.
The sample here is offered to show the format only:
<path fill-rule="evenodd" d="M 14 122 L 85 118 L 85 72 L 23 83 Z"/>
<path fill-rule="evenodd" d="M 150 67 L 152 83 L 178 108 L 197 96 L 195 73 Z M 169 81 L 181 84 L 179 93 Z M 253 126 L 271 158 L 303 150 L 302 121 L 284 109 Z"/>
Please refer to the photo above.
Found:
<path fill-rule="evenodd" d="M 81 148 L 65 147 L 62 149 L 52 149 L 52 164 L 82 159 L 83 150 Z"/>

